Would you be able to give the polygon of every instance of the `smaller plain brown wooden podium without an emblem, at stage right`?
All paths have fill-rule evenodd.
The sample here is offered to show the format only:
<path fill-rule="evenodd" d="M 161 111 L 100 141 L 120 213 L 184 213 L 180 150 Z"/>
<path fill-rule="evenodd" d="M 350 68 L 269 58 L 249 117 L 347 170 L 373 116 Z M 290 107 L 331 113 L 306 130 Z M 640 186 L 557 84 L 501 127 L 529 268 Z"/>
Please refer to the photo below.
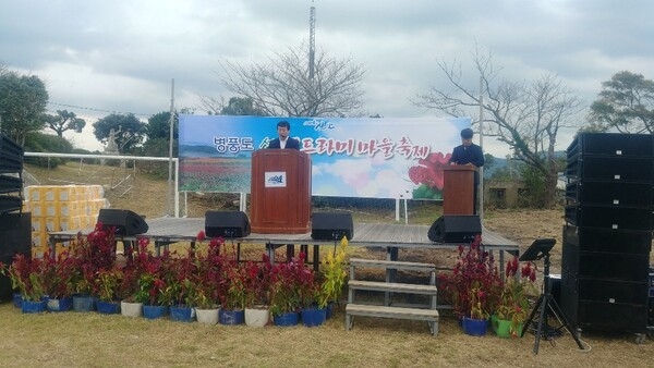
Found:
<path fill-rule="evenodd" d="M 443 169 L 443 214 L 474 214 L 474 172 L 471 164 Z"/>

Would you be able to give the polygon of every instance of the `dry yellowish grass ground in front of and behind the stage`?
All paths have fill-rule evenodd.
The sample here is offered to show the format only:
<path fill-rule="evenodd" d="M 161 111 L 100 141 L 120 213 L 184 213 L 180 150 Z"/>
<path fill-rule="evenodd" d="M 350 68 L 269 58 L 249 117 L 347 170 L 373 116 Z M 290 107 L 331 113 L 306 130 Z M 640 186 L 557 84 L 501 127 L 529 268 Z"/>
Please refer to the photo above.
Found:
<path fill-rule="evenodd" d="M 111 189 L 111 177 L 130 170 L 69 163 L 57 170 L 29 168 L 41 184 L 93 183 L 107 187 L 112 207 L 146 217 L 167 211 L 166 181 L 136 173 L 126 187 Z M 128 174 L 125 174 L 128 173 Z M 230 200 L 193 195 L 189 216 L 202 217 L 207 208 L 232 206 Z M 410 222 L 429 224 L 439 211 L 433 205 L 412 205 Z M 356 209 L 355 221 L 395 221 L 389 209 Z M 553 250 L 553 272 L 560 269 L 562 210 L 487 211 L 484 224 L 520 244 L 522 250 L 537 237 L 558 240 Z M 256 250 L 252 250 L 256 252 Z M 355 249 L 359 256 L 378 256 L 375 249 Z M 453 265 L 453 255 L 415 250 L 401 257 Z M 646 367 L 654 361 L 651 340 L 635 343 L 629 333 L 584 331 L 580 351 L 570 335 L 541 340 L 532 353 L 534 335 L 499 339 L 468 336 L 447 311 L 440 333 L 433 338 L 424 322 L 358 317 L 344 330 L 344 312 L 318 328 L 254 329 L 204 326 L 169 320 L 149 321 L 98 314 L 22 315 L 11 304 L 0 305 L 3 338 L 0 365 L 4 367 Z"/>

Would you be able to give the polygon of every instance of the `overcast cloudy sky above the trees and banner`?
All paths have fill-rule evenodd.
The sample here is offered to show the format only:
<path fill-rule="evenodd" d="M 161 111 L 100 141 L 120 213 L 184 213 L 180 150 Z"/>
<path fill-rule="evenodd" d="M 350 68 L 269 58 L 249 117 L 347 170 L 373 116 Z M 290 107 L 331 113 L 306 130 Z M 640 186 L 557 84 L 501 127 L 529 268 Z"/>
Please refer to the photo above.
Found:
<path fill-rule="evenodd" d="M 439 60 L 460 61 L 471 88 L 471 52 L 493 53 L 502 76 L 557 73 L 588 102 L 619 71 L 654 78 L 650 0 L 315 0 L 316 49 L 363 64 L 365 110 L 386 118 L 441 115 L 409 98 L 448 88 Z M 219 61 L 261 62 L 308 41 L 311 0 L 21 0 L 0 8 L 0 62 L 38 75 L 48 109 L 87 120 L 75 145 L 101 149 L 92 124 L 113 111 L 146 121 L 198 96 L 232 95 Z M 202 109 L 196 113 L 204 113 Z M 484 142 L 487 152 L 507 147 Z M 562 142 L 561 142 L 562 140 Z M 569 140 L 559 139 L 559 149 Z"/>

